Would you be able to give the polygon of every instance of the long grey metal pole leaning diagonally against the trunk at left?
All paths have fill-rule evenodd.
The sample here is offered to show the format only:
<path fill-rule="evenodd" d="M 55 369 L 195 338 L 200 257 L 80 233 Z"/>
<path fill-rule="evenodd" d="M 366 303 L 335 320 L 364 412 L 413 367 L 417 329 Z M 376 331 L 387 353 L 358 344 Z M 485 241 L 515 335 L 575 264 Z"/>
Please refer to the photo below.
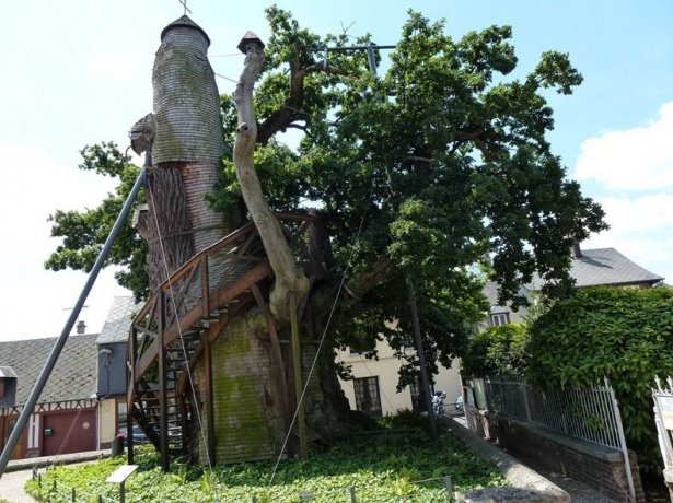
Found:
<path fill-rule="evenodd" d="M 119 231 L 121 230 L 121 226 L 124 225 L 124 221 L 126 220 L 126 217 L 128 215 L 129 211 L 131 210 L 131 207 L 134 206 L 136 196 L 138 196 L 138 191 L 140 190 L 140 187 L 144 185 L 144 178 L 146 178 L 146 169 L 143 167 L 140 171 L 140 174 L 138 175 L 138 178 L 136 179 L 136 183 L 134 184 L 134 187 L 131 188 L 131 191 L 128 195 L 128 198 L 126 199 L 126 202 L 124 203 L 124 207 L 121 208 L 121 211 L 119 212 L 119 217 L 117 217 L 117 220 L 115 221 L 115 224 L 113 225 L 113 229 L 109 232 L 109 235 L 107 236 L 107 239 L 105 241 L 105 244 L 103 245 L 103 249 L 101 249 L 101 253 L 98 254 L 98 258 L 93 265 L 93 269 L 89 273 L 89 279 L 86 280 L 86 283 L 84 284 L 84 288 L 82 289 L 82 293 L 80 293 L 80 297 L 74 304 L 74 307 L 70 312 L 70 317 L 68 318 L 68 321 L 66 321 L 66 326 L 63 327 L 61 335 L 59 336 L 58 340 L 56 341 L 56 344 L 51 349 L 51 353 L 49 353 L 49 358 L 47 359 L 45 366 L 39 373 L 39 377 L 35 382 L 35 386 L 33 387 L 33 390 L 31 391 L 28 399 L 23 406 L 23 410 L 21 411 L 21 414 L 19 416 L 19 420 L 16 421 L 16 425 L 14 426 L 14 430 L 12 430 L 12 434 L 8 438 L 7 444 L 4 445 L 4 448 L 2 449 L 2 455 L 0 456 L 0 478 L 2 478 L 2 476 L 4 475 L 4 470 L 7 468 L 7 464 L 9 463 L 12 456 L 12 452 L 14 451 L 14 447 L 19 443 L 19 438 L 21 437 L 21 434 L 23 433 L 23 430 L 25 429 L 25 425 L 28 422 L 28 418 L 31 417 L 31 414 L 33 413 L 33 410 L 35 409 L 35 405 L 37 403 L 37 400 L 39 399 L 39 395 L 42 394 L 43 389 L 45 388 L 45 385 L 47 384 L 47 379 L 49 378 L 49 375 L 51 375 L 51 371 L 54 371 L 54 366 L 56 365 L 58 356 L 60 355 L 63 349 L 63 346 L 66 346 L 66 342 L 68 341 L 68 336 L 70 335 L 70 331 L 72 330 L 72 327 L 74 326 L 74 323 L 77 321 L 77 318 L 79 317 L 80 312 L 82 311 L 82 306 L 84 305 L 84 302 L 86 301 L 86 297 L 89 296 L 89 293 L 91 292 L 91 289 L 93 288 L 93 283 L 96 281 L 98 277 L 98 272 L 101 272 L 101 269 L 103 268 L 103 264 L 105 262 L 105 259 L 107 258 L 107 255 L 109 254 L 112 245 L 117 238 L 117 234 L 119 234 Z"/>

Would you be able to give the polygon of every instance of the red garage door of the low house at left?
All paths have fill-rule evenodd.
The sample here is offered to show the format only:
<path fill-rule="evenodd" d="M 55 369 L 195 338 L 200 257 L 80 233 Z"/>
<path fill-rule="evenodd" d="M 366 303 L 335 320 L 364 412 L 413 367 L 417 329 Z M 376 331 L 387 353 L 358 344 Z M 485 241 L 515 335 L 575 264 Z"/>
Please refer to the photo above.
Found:
<path fill-rule="evenodd" d="M 95 409 L 55 411 L 43 414 L 43 456 L 81 453 L 96 448 Z"/>

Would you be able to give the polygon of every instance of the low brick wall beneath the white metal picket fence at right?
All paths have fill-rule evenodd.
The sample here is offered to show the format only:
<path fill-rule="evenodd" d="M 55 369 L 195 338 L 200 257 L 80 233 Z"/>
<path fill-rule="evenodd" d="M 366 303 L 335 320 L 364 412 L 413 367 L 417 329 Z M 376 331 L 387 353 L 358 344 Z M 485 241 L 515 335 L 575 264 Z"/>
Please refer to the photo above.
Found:
<path fill-rule="evenodd" d="M 526 421 L 489 417 L 491 440 L 532 468 L 544 467 L 584 482 L 615 501 L 629 501 L 622 452 L 572 438 Z M 645 502 L 636 454 L 629 452 L 636 500 Z"/>

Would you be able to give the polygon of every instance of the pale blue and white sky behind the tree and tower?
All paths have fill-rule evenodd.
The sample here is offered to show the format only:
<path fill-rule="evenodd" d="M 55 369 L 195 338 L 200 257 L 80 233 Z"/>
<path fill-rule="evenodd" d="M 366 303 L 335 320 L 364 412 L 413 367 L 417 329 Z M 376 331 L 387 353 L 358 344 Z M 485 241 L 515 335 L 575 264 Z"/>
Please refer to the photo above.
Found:
<path fill-rule="evenodd" d="M 569 52 L 583 74 L 570 96 L 549 94 L 553 150 L 583 194 L 605 209 L 610 231 L 584 248 L 615 247 L 673 282 L 673 2 L 643 0 L 277 1 L 318 34 L 399 38 L 409 8 L 445 19 L 460 37 L 511 25 L 519 69 L 545 50 Z M 210 36 L 220 93 L 231 93 L 243 63 L 236 45 L 248 30 L 268 39 L 269 2 L 187 0 Z M 47 218 L 93 208 L 114 189 L 78 169 L 80 150 L 115 141 L 152 108 L 151 71 L 162 28 L 178 0 L 22 0 L 3 5 L 0 31 L 0 340 L 55 337 L 86 281 L 44 261 L 59 245 Z M 385 65 L 385 62 L 384 62 Z M 113 271 L 98 277 L 79 319 L 97 332 L 115 295 Z"/>

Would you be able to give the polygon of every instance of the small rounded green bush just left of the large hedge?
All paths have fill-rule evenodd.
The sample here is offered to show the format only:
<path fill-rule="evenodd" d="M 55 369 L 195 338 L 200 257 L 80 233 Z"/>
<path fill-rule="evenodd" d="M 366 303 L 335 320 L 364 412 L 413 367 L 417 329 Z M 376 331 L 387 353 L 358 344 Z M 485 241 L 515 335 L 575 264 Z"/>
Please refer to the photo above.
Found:
<path fill-rule="evenodd" d="M 525 326 L 489 327 L 476 335 L 461 361 L 464 375 L 521 379 L 525 376 L 529 342 Z"/>

